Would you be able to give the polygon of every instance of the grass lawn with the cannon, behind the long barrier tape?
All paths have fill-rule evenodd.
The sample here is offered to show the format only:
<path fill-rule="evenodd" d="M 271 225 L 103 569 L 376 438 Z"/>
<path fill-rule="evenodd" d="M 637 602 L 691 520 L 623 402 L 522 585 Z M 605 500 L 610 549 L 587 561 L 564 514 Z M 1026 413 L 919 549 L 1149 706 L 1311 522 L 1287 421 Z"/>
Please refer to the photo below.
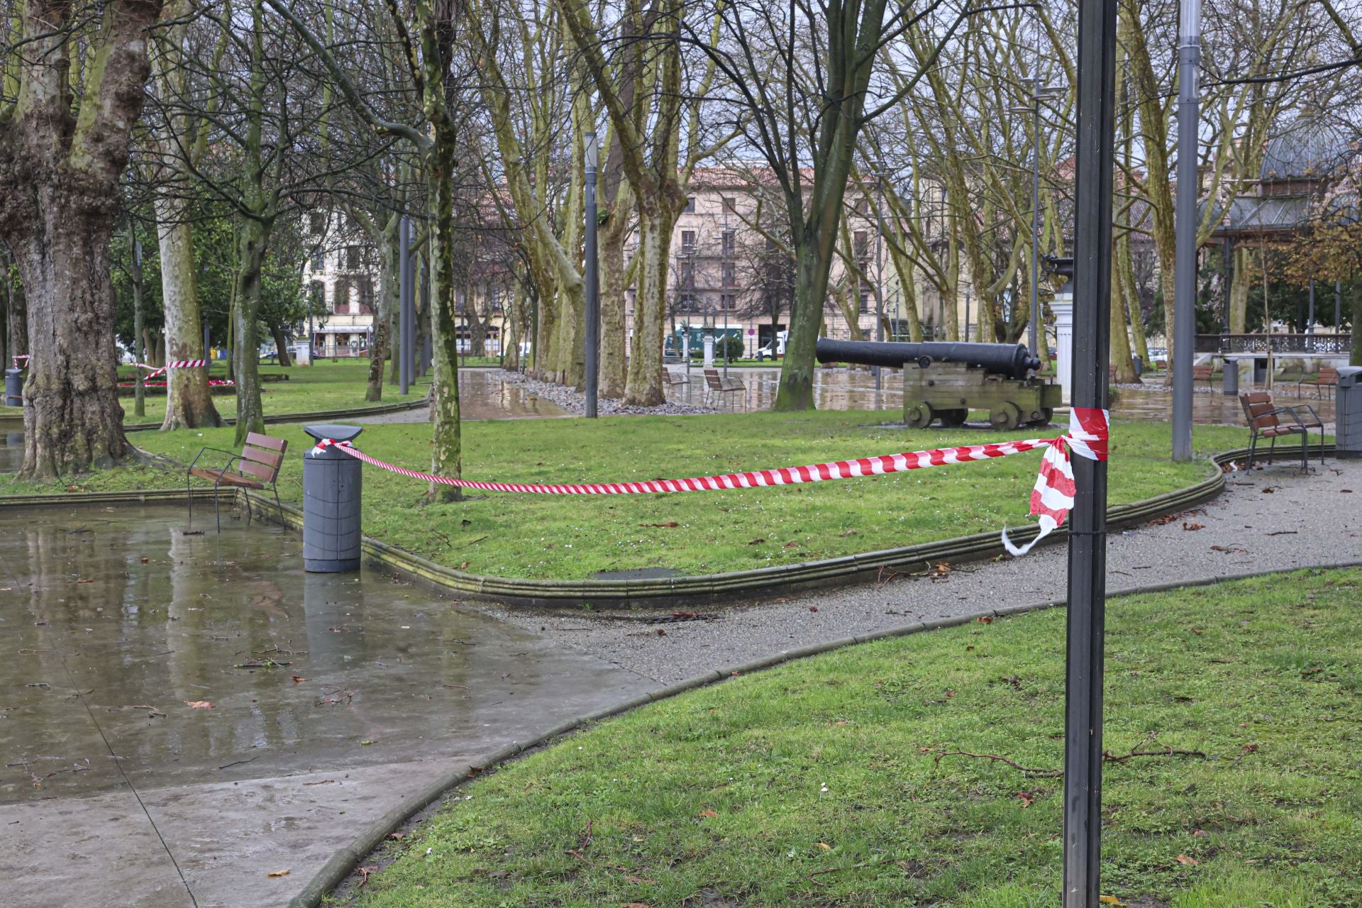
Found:
<path fill-rule="evenodd" d="M 1028 432 L 904 430 L 898 412 L 718 414 L 466 423 L 463 475 L 507 482 L 610 482 L 787 467 L 957 444 L 1024 438 Z M 1057 434 L 1058 429 L 1045 433 Z M 290 455 L 279 482 L 301 501 L 300 426 L 270 426 Z M 1041 434 L 1041 433 L 1036 433 Z M 233 429 L 138 433 L 135 444 L 188 463 L 200 447 L 236 449 Z M 1203 452 L 1239 447 L 1238 429 L 1197 426 Z M 380 425 L 358 445 L 388 463 L 429 470 L 430 426 Z M 1203 463 L 1174 464 L 1169 427 L 1118 423 L 1110 498 L 1122 504 L 1192 485 Z M 686 574 L 797 564 L 892 549 L 1008 525 L 1027 515 L 1039 452 L 985 463 L 840 482 L 658 496 L 482 493 L 422 504 L 424 483 L 365 467 L 364 532 L 474 573 L 584 579 L 598 570 L 673 568 Z M 84 490 L 170 487 L 183 475 L 150 467 L 82 476 Z M 11 481 L 10 494 L 60 490 Z"/>

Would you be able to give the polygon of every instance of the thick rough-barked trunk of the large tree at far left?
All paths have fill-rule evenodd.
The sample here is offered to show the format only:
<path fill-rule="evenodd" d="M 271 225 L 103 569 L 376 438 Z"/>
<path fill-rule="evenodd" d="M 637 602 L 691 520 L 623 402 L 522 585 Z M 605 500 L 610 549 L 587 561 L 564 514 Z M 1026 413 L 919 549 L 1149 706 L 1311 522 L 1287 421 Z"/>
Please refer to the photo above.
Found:
<path fill-rule="evenodd" d="M 25 479 L 112 467 L 129 456 L 123 436 L 109 279 L 108 215 L 46 195 L 42 219 L 10 248 L 29 302 L 23 389 Z"/>

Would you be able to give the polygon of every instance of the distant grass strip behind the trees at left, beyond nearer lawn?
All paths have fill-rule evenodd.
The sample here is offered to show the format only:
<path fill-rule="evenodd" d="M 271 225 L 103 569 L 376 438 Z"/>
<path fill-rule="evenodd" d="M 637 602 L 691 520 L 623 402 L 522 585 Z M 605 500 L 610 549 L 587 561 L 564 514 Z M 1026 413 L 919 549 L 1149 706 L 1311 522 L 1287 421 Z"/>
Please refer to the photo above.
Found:
<path fill-rule="evenodd" d="M 278 365 L 271 366 L 267 362 L 260 363 L 263 374 L 289 376 L 287 381 L 268 381 L 260 385 L 260 403 L 264 406 L 267 414 L 313 412 L 317 410 L 375 406 L 364 399 L 364 391 L 369 381 L 368 359 L 342 359 L 339 362 L 316 359 L 313 362 L 315 365 L 311 366 L 290 366 L 287 369 Z M 221 361 L 214 361 L 210 376 L 214 378 L 227 378 L 226 365 Z M 120 381 L 131 380 L 131 368 L 120 366 L 118 378 Z M 429 384 L 429 378 L 418 378 L 415 393 L 424 396 Z M 384 384 L 383 400 L 379 403 L 396 403 L 410 399 L 410 396 L 402 398 L 398 393 L 396 385 Z M 146 398 L 147 414 L 144 417 L 138 417 L 132 412 L 132 398 L 118 398 L 118 403 L 123 404 L 123 421 L 128 425 L 139 422 L 159 423 L 166 415 L 165 395 L 148 395 Z M 214 395 L 212 403 L 218 407 L 221 415 L 237 415 L 236 395 Z"/>

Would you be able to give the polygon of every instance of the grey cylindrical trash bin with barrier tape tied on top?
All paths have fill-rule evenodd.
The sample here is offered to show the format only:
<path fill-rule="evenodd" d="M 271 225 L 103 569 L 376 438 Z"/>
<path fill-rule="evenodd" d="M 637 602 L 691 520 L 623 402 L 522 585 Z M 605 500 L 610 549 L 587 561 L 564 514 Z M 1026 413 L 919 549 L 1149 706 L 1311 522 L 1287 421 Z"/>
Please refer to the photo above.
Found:
<path fill-rule="evenodd" d="M 321 441 L 350 441 L 362 426 L 304 426 Z M 335 447 L 302 455 L 302 568 L 320 573 L 360 569 L 364 464 Z"/>

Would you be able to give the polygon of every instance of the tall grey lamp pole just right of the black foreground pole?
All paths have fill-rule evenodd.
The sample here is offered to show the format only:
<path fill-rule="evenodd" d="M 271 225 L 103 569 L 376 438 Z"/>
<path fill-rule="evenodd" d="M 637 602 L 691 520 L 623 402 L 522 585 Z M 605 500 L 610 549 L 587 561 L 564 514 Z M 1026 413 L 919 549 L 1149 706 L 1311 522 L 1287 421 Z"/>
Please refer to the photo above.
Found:
<path fill-rule="evenodd" d="M 1173 305 L 1173 459 L 1192 459 L 1192 354 L 1196 343 L 1197 71 L 1201 0 L 1182 0 L 1178 25 L 1178 201 Z"/>

